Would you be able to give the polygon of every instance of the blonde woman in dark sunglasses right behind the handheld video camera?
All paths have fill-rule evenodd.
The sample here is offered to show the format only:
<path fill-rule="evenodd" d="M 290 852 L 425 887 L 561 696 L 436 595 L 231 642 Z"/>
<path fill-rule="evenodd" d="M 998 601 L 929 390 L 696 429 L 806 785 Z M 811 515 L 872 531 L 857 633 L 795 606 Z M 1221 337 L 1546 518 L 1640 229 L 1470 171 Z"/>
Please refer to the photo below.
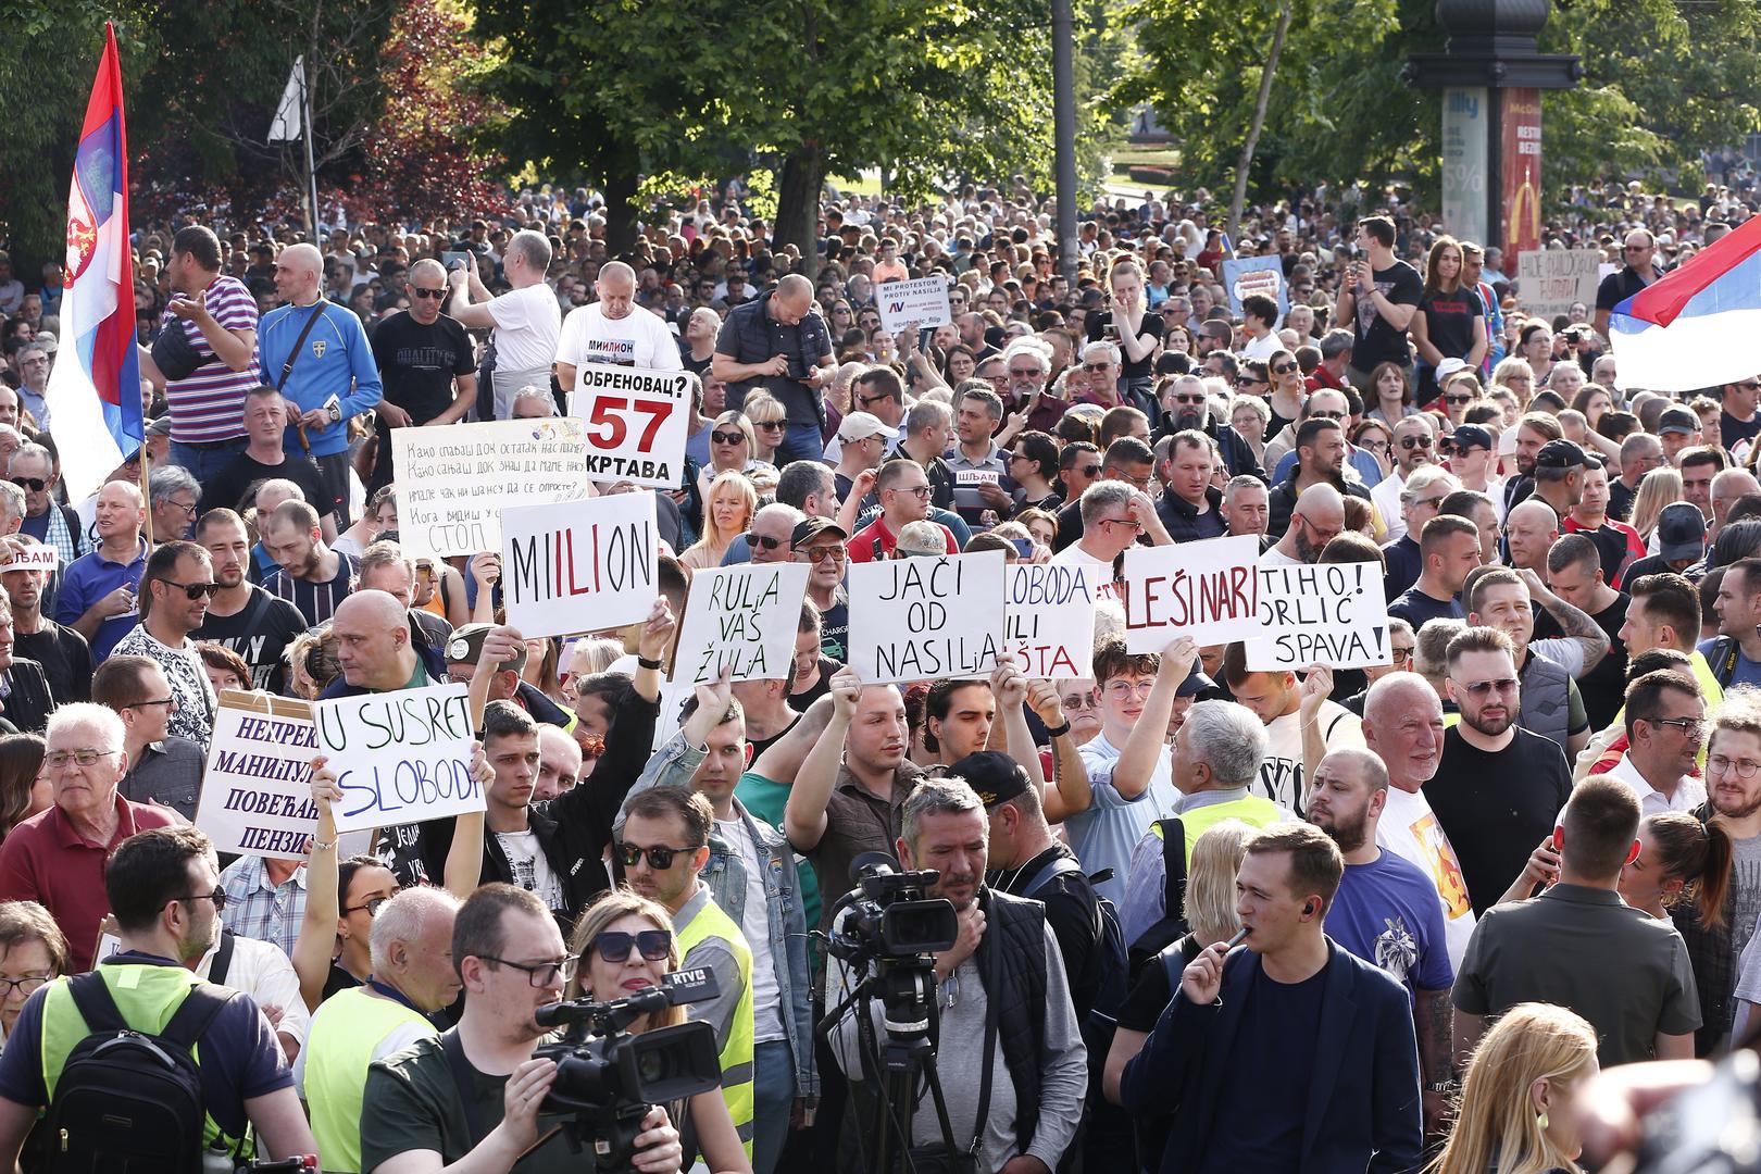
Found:
<path fill-rule="evenodd" d="M 597 1002 L 629 998 L 660 986 L 660 979 L 678 970 L 673 919 L 664 908 L 629 889 L 613 889 L 581 914 L 569 940 L 569 952 L 579 963 L 564 989 L 564 998 Z M 630 1035 L 678 1023 L 685 1023 L 685 1009 L 667 1007 L 632 1023 Z M 715 1174 L 752 1174 L 752 1162 L 740 1144 L 734 1119 L 727 1114 L 727 1102 L 722 1100 L 718 1088 L 697 1093 L 683 1105 L 666 1105 L 666 1111 L 687 1135 L 687 1155 L 696 1146 Z"/>

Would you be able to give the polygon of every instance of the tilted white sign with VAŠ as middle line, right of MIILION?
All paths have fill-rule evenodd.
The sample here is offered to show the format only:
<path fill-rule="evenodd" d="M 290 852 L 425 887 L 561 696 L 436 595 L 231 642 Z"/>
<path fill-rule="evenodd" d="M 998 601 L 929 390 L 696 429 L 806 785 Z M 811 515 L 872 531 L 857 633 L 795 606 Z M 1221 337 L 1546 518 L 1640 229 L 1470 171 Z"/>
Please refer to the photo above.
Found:
<path fill-rule="evenodd" d="M 699 570 L 685 597 L 673 679 L 787 681 L 807 595 L 807 563 L 736 563 Z"/>

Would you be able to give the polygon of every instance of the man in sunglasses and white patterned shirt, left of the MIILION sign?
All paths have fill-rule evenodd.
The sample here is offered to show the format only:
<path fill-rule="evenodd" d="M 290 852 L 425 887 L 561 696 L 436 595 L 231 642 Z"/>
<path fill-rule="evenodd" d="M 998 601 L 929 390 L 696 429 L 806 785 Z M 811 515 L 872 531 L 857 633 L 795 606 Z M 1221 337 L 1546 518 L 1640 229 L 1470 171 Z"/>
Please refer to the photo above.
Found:
<path fill-rule="evenodd" d="M 114 657 L 146 657 L 166 671 L 173 702 L 166 729 L 203 752 L 213 736 L 217 701 L 190 632 L 203 627 L 218 586 L 208 551 L 194 542 L 166 542 L 141 574 L 141 623 L 111 649 Z"/>

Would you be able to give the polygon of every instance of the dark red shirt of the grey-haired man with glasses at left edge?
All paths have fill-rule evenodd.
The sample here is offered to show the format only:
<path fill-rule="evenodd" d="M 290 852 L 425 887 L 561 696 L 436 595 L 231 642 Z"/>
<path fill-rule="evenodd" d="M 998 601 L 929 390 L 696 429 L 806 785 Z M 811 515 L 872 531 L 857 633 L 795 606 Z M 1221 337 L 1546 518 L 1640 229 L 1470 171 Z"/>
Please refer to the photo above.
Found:
<path fill-rule="evenodd" d="M 67 935 L 72 972 L 92 970 L 99 922 L 111 912 L 104 892 L 104 862 L 116 845 L 148 827 L 171 827 L 176 818 L 144 803 L 116 796 L 116 834 L 90 843 L 74 831 L 62 808 L 39 811 L 0 843 L 0 899 L 37 901 Z"/>

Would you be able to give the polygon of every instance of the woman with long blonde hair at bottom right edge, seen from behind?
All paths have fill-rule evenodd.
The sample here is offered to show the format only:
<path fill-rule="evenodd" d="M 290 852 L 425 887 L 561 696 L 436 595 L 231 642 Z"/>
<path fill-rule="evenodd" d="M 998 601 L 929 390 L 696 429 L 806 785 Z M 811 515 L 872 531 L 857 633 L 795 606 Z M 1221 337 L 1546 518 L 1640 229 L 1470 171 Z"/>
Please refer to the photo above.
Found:
<path fill-rule="evenodd" d="M 1595 1028 L 1551 1003 L 1518 1003 L 1474 1049 L 1455 1128 L 1426 1174 L 1578 1174 L 1573 1091 L 1599 1072 Z"/>

